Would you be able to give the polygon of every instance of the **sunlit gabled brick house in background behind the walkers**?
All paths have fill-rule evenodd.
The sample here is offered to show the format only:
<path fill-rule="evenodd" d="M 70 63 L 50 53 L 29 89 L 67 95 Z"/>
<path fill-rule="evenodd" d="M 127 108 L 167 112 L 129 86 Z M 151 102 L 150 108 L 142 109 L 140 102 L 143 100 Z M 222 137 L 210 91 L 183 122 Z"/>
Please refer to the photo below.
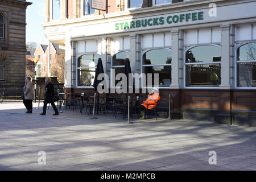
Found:
<path fill-rule="evenodd" d="M 36 77 L 50 77 L 49 73 L 49 62 L 50 65 L 55 64 L 55 60 L 64 55 L 64 49 L 61 49 L 59 44 L 50 43 L 50 49 L 48 45 L 38 44 L 34 57 L 38 59 L 36 64 Z M 50 61 L 49 61 L 50 59 Z"/>

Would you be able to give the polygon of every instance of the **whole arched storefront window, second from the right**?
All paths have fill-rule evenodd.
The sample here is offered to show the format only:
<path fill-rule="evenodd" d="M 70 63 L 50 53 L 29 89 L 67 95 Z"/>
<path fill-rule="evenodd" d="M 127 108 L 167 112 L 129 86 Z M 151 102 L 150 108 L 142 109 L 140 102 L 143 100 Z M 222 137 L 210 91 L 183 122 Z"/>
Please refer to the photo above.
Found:
<path fill-rule="evenodd" d="M 197 46 L 185 54 L 186 86 L 218 86 L 221 82 L 221 48 Z"/>

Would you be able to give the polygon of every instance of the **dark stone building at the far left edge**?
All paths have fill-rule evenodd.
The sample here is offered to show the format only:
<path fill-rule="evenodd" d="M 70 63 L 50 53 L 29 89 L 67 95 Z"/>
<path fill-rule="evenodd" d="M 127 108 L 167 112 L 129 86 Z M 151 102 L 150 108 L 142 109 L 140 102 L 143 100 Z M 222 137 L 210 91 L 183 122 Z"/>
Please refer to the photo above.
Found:
<path fill-rule="evenodd" d="M 26 69 L 25 0 L 0 1 L 0 88 L 22 89 Z"/>

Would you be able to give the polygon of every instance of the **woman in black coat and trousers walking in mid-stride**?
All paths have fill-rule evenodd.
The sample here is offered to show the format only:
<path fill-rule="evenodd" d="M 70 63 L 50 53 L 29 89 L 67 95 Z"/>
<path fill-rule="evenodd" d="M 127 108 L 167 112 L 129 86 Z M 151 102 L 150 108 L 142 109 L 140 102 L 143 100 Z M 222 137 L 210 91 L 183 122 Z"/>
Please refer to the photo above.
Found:
<path fill-rule="evenodd" d="M 43 113 L 41 113 L 41 115 L 46 115 L 46 107 L 47 107 L 47 104 L 48 103 L 51 103 L 52 105 L 52 108 L 54 109 L 55 111 L 55 114 L 53 115 L 58 115 L 59 114 L 59 111 L 57 110 L 57 107 L 56 105 L 54 104 L 54 102 L 52 101 L 52 97 L 54 96 L 54 87 L 53 87 L 53 84 L 50 80 L 50 78 L 46 77 L 46 87 L 45 87 L 45 90 L 46 90 L 46 98 L 44 98 L 44 107 L 43 107 Z"/>

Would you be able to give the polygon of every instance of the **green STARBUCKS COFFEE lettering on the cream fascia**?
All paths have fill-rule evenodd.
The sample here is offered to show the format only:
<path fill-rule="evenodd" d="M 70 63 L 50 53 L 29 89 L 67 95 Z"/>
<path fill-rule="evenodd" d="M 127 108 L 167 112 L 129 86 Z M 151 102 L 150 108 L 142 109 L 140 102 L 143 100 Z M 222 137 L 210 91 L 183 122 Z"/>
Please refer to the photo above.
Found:
<path fill-rule="evenodd" d="M 115 30 L 125 30 L 130 28 L 141 28 L 141 27 L 151 27 L 159 26 L 163 24 L 176 24 L 184 22 L 195 22 L 204 19 L 204 11 L 195 13 L 185 13 L 185 14 L 174 14 L 168 16 L 159 16 L 155 18 L 147 18 L 140 20 L 131 20 L 127 22 L 115 23 Z"/>

